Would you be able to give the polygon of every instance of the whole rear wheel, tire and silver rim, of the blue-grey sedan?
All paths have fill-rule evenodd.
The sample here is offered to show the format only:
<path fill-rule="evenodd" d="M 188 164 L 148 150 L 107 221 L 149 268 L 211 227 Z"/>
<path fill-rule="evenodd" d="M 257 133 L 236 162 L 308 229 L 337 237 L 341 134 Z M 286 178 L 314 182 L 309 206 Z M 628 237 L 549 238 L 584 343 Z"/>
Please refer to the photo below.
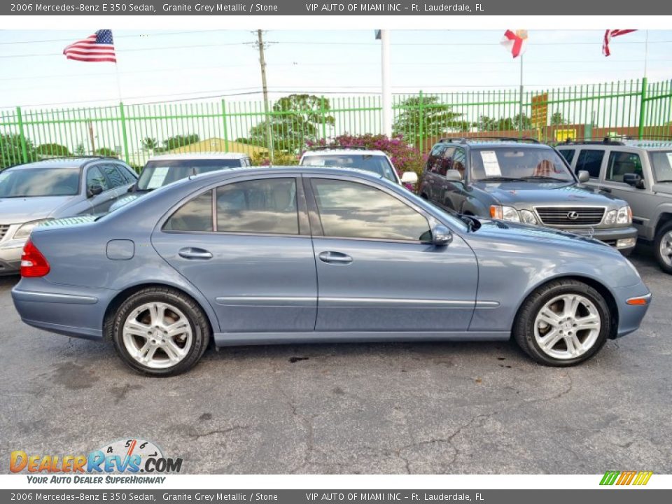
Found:
<path fill-rule="evenodd" d="M 185 372 L 203 355 L 210 327 L 202 309 L 169 288 L 146 288 L 116 312 L 112 338 L 122 360 L 154 376 Z"/>

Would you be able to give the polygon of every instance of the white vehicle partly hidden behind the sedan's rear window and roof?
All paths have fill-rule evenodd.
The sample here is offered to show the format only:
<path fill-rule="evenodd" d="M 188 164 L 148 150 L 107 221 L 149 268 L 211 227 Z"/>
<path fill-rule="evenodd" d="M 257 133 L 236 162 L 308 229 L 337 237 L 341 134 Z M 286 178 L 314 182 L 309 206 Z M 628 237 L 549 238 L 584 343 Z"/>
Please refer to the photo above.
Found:
<path fill-rule="evenodd" d="M 130 193 L 110 207 L 110 211 L 123 207 L 167 184 L 186 179 L 188 176 L 220 169 L 252 166 L 250 157 L 241 153 L 181 153 L 162 154 L 149 158 L 136 183 L 128 190 Z"/>

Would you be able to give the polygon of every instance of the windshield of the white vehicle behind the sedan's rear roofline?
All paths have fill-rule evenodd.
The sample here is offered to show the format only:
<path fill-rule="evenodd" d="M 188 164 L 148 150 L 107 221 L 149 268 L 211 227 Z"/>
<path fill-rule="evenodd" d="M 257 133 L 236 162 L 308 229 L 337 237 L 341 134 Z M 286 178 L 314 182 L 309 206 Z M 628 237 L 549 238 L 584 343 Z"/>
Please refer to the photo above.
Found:
<path fill-rule="evenodd" d="M 149 161 L 138 179 L 138 190 L 153 190 L 191 175 L 214 172 L 218 169 L 240 167 L 241 160 L 165 160 Z"/>

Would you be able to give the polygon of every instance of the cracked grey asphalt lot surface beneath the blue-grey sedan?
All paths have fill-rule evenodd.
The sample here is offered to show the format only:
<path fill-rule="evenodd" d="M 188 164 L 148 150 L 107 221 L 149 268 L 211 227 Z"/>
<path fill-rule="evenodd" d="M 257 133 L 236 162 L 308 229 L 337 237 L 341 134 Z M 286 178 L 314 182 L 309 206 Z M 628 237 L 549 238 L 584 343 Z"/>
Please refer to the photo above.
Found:
<path fill-rule="evenodd" d="M 88 453 L 141 437 L 188 473 L 672 472 L 672 276 L 642 328 L 542 367 L 508 343 L 209 349 L 168 379 L 111 344 L 29 328 L 0 279 L 0 472 L 10 451 Z"/>

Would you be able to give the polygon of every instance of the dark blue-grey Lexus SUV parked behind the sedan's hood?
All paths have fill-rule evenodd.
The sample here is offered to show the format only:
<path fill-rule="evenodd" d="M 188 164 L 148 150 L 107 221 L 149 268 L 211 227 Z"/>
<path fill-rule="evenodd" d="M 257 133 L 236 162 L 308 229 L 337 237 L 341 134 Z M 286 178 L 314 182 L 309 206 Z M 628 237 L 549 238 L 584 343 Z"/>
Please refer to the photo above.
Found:
<path fill-rule="evenodd" d="M 637 230 L 624 200 L 583 186 L 552 147 L 533 139 L 441 139 L 419 194 L 458 214 L 557 228 L 594 237 L 628 255 Z"/>

